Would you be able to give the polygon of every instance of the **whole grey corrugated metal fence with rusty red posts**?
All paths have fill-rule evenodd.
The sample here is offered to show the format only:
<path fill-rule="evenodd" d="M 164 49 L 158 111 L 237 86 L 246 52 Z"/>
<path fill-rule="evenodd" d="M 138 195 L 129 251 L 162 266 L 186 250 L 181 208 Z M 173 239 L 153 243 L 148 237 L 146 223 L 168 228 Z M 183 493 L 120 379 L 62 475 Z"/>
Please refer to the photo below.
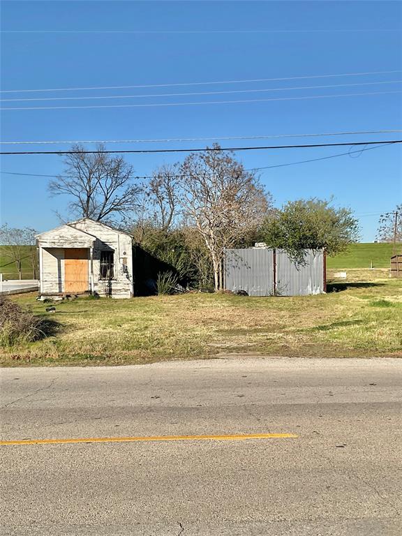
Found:
<path fill-rule="evenodd" d="M 305 249 L 295 260 L 284 249 L 225 250 L 225 289 L 249 296 L 305 296 L 325 292 L 325 252 Z"/>

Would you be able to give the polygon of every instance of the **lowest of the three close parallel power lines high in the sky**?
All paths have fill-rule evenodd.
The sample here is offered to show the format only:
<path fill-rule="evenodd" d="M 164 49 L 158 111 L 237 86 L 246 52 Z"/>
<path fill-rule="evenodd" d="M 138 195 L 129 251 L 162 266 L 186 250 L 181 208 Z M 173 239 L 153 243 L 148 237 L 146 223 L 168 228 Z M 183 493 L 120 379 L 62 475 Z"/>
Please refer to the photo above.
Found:
<path fill-rule="evenodd" d="M 401 91 L 370 91 L 367 93 L 346 93 L 338 95 L 315 95 L 302 97 L 278 97 L 278 98 L 251 98 L 240 99 L 238 101 L 205 101 L 193 103 L 151 103 L 151 104 L 107 104 L 107 105 L 90 105 L 90 106 L 26 106 L 26 107 L 1 107 L 0 110 L 87 110 L 89 108 L 147 108 L 147 107 L 166 107 L 166 106 L 193 106 L 205 104 L 239 104 L 239 103 L 263 103 L 268 101 L 302 101 L 305 99 L 315 98 L 334 98 L 334 97 L 357 97 L 364 95 L 389 95 L 399 94 Z"/>

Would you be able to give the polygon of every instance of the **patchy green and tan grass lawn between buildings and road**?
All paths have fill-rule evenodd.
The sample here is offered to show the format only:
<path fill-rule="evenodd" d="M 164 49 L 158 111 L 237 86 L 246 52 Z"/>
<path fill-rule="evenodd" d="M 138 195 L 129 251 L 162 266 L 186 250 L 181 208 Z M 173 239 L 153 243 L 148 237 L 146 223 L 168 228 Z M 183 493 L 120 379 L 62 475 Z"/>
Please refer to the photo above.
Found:
<path fill-rule="evenodd" d="M 363 272 L 364 274 L 364 272 Z M 135 364 L 236 352 L 306 357 L 402 357 L 402 281 L 378 271 L 334 283 L 327 295 L 239 297 L 187 294 L 79 298 L 47 304 L 14 299 L 59 322 L 57 334 L 0 350 L 6 366 Z"/>

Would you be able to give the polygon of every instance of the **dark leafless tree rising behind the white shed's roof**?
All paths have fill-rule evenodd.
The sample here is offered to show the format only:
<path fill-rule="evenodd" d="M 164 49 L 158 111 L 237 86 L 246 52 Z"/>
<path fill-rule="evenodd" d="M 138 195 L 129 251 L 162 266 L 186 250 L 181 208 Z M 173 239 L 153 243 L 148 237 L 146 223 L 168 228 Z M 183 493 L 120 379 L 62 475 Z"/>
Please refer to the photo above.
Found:
<path fill-rule="evenodd" d="M 73 214 L 97 221 L 121 219 L 137 204 L 140 188 L 133 184 L 133 168 L 121 156 L 105 153 L 103 145 L 95 154 L 73 145 L 65 164 L 64 174 L 50 181 L 49 191 L 67 195 Z"/>

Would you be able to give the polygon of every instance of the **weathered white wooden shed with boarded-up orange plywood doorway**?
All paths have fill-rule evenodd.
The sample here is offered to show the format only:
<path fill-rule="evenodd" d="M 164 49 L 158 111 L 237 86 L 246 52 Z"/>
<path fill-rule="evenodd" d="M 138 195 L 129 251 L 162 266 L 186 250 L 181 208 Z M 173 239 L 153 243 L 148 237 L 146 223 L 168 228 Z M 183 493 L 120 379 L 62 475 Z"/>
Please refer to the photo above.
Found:
<path fill-rule="evenodd" d="M 82 218 L 38 234 L 40 294 L 133 296 L 130 234 Z"/>

